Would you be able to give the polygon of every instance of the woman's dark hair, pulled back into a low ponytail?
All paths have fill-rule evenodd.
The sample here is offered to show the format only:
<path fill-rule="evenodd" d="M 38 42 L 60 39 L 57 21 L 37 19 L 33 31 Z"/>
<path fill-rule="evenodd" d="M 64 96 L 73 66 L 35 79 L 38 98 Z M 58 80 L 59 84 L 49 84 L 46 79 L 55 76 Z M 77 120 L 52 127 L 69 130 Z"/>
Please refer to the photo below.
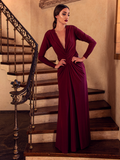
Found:
<path fill-rule="evenodd" d="M 64 8 L 68 8 L 68 6 L 64 5 L 64 4 L 58 4 L 55 9 L 54 9 L 54 22 L 53 22 L 53 29 L 56 28 L 56 24 L 57 24 L 57 18 L 56 16 L 59 15 L 59 13 L 64 9 Z"/>

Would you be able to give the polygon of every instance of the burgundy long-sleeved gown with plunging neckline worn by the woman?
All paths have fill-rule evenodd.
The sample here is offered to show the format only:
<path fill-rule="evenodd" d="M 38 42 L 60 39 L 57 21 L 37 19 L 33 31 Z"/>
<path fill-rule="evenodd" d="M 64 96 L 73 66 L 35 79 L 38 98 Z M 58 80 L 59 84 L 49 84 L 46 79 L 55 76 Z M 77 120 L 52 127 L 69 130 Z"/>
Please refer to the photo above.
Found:
<path fill-rule="evenodd" d="M 56 147 L 63 153 L 76 152 L 90 143 L 90 125 L 88 108 L 88 90 L 85 67 L 82 62 L 72 62 L 78 57 L 76 40 L 87 42 L 85 58 L 92 52 L 96 42 L 75 26 L 66 26 L 65 48 L 63 48 L 54 29 L 46 32 L 40 47 L 38 59 L 55 67 L 44 57 L 51 46 L 58 60 L 66 59 L 66 65 L 58 69 L 59 105 Z"/>

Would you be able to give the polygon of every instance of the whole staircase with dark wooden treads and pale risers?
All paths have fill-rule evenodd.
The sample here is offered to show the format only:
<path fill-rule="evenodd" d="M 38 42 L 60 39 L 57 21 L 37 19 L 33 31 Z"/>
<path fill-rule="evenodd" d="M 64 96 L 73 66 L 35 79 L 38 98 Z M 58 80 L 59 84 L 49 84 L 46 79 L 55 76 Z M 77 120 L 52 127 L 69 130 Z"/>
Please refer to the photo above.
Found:
<path fill-rule="evenodd" d="M 33 48 L 28 44 L 17 44 L 16 37 L 1 36 L 1 40 L 1 65 L 8 65 L 7 74 L 17 77 L 20 87 L 25 88 L 33 62 Z M 64 154 L 55 148 L 59 96 L 57 70 L 39 61 L 35 79 L 31 102 L 34 107 L 30 109 L 32 124 L 27 131 L 28 144 L 24 151 L 26 160 L 120 159 L 119 127 L 111 118 L 111 106 L 103 98 L 104 90 L 88 88 L 90 146 L 77 153 Z"/>

